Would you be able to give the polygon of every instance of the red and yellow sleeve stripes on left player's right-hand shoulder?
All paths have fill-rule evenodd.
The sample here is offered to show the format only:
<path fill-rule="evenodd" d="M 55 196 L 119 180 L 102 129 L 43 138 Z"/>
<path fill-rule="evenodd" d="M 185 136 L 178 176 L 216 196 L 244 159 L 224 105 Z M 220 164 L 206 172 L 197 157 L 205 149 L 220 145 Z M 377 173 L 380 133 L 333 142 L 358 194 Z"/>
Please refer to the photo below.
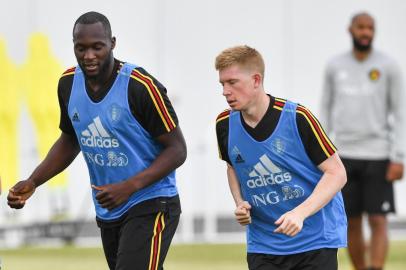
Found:
<path fill-rule="evenodd" d="M 142 83 L 148 90 L 148 93 L 152 101 L 154 102 L 155 108 L 157 109 L 157 112 L 165 125 L 166 131 L 169 132 L 175 129 L 176 124 L 173 121 L 171 115 L 169 114 L 168 109 L 165 106 L 165 102 L 162 98 L 162 95 L 159 92 L 156 85 L 154 84 L 154 81 L 151 79 L 151 77 L 142 74 L 136 69 L 133 69 L 133 71 L 131 72 L 131 78 Z"/>

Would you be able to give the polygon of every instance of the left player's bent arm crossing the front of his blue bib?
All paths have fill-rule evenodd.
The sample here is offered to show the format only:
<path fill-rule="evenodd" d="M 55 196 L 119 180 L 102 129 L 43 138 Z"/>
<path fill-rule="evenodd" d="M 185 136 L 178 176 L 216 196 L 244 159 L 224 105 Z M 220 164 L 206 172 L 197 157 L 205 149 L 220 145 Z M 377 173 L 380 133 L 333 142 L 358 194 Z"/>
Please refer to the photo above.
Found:
<path fill-rule="evenodd" d="M 96 199 L 101 207 L 109 210 L 117 207 L 134 192 L 161 180 L 185 162 L 186 143 L 179 126 L 158 136 L 156 140 L 163 146 L 163 150 L 148 168 L 120 183 L 93 186 L 99 191 Z"/>

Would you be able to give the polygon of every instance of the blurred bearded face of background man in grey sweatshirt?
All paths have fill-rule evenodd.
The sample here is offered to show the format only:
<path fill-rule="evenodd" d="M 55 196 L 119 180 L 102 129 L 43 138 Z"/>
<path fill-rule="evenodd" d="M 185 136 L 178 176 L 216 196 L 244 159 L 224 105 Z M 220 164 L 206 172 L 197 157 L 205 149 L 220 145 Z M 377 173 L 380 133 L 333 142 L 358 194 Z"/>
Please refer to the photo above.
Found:
<path fill-rule="evenodd" d="M 374 20 L 368 15 L 358 16 L 350 26 L 353 45 L 356 50 L 368 51 L 374 39 Z"/>

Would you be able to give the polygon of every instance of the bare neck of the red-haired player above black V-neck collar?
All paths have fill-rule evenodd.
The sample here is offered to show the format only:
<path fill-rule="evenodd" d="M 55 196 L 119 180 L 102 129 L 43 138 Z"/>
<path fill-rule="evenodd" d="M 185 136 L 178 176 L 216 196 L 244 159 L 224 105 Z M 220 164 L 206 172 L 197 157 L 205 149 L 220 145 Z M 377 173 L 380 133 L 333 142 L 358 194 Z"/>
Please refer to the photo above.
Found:
<path fill-rule="evenodd" d="M 245 123 L 255 128 L 268 110 L 270 101 L 271 98 L 262 91 L 249 108 L 241 112 Z"/>

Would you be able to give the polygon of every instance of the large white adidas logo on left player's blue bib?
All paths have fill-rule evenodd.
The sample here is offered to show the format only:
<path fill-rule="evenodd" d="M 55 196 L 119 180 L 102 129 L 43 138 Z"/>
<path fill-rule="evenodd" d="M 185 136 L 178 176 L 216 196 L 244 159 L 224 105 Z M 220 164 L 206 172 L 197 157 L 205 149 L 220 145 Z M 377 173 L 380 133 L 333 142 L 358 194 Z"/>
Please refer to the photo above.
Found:
<path fill-rule="evenodd" d="M 99 116 L 93 119 L 93 123 L 86 130 L 82 131 L 80 142 L 88 147 L 115 148 L 120 146 L 118 140 L 112 138 L 103 127 Z"/>

